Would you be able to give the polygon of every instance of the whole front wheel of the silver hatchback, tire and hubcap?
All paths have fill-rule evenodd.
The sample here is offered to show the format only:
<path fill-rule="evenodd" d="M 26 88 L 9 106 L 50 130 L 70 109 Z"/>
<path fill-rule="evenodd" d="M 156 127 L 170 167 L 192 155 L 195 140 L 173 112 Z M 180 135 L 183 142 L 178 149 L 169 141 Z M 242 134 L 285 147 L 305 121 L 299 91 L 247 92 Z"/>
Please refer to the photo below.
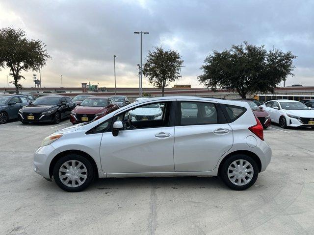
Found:
<path fill-rule="evenodd" d="M 84 190 L 93 182 L 94 177 L 95 171 L 91 162 L 77 154 L 61 157 L 53 167 L 55 183 L 68 192 Z"/>

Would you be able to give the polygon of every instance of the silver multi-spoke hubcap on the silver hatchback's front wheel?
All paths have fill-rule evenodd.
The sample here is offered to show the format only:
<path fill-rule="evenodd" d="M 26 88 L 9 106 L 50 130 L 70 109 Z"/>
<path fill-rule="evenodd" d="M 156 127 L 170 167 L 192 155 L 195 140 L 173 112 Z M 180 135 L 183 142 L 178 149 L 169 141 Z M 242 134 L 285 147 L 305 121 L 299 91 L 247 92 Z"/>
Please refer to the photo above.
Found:
<path fill-rule="evenodd" d="M 67 161 L 59 169 L 59 178 L 68 187 L 78 187 L 87 178 L 86 166 L 77 160 Z"/>

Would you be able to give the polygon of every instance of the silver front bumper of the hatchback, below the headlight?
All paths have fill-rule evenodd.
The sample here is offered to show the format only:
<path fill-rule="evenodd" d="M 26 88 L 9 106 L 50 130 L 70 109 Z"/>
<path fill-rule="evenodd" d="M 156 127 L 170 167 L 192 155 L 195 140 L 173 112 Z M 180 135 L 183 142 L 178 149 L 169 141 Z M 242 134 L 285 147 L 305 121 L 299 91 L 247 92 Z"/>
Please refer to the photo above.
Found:
<path fill-rule="evenodd" d="M 55 150 L 50 144 L 39 147 L 34 153 L 34 171 L 44 178 L 50 179 L 51 176 L 49 174 L 49 166 L 54 156 L 56 156 L 58 153 L 59 152 Z"/>

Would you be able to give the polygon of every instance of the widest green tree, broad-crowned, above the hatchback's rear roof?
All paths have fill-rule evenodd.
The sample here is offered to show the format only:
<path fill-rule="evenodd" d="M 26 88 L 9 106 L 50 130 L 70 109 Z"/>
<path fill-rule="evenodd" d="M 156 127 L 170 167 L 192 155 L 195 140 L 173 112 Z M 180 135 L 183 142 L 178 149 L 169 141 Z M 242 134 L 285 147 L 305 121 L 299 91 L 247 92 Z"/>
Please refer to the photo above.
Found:
<path fill-rule="evenodd" d="M 294 75 L 290 51 L 267 50 L 247 42 L 233 45 L 222 52 L 213 51 L 206 57 L 198 76 L 201 84 L 215 91 L 217 88 L 235 90 L 242 97 L 254 93 L 274 93 L 277 85 Z"/>

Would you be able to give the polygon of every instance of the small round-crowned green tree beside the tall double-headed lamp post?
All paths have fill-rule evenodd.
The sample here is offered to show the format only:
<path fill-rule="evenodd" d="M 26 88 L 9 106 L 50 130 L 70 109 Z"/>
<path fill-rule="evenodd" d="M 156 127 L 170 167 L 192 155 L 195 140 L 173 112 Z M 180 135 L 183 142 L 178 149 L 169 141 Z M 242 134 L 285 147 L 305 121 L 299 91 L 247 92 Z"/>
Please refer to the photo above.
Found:
<path fill-rule="evenodd" d="M 180 53 L 175 50 L 165 50 L 162 47 L 154 47 L 149 51 L 144 64 L 143 74 L 148 78 L 149 83 L 161 89 L 164 96 L 165 87 L 181 77 L 183 60 Z"/>

